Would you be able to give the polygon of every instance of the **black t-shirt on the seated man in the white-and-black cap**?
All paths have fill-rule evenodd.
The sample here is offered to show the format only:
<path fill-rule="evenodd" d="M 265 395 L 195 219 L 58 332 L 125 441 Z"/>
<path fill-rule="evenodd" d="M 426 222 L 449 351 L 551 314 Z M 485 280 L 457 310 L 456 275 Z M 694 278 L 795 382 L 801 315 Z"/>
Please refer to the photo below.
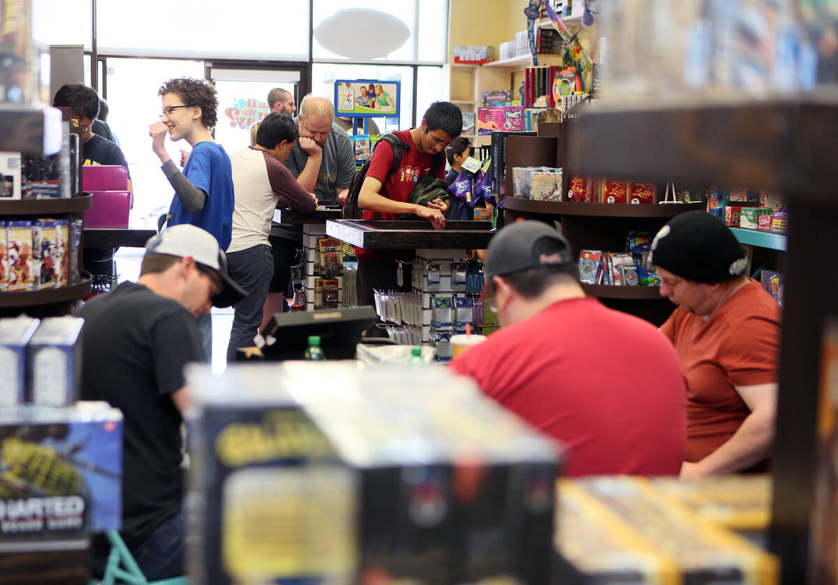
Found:
<path fill-rule="evenodd" d="M 138 546 L 177 514 L 183 419 L 169 393 L 184 386 L 184 365 L 204 361 L 194 316 L 135 282 L 91 299 L 79 311 L 81 396 L 122 411 L 122 538 Z"/>

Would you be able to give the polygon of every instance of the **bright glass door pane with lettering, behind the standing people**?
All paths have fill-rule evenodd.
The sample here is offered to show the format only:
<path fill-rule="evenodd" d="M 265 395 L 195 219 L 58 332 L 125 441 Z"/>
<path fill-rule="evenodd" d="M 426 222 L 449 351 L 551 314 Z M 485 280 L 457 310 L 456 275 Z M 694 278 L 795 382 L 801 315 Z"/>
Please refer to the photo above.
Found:
<path fill-rule="evenodd" d="M 290 91 L 295 103 L 299 71 L 235 70 L 213 67 L 210 78 L 218 91 L 218 126 L 215 141 L 232 155 L 251 143 L 251 126 L 268 114 L 267 94 L 275 87 Z"/>

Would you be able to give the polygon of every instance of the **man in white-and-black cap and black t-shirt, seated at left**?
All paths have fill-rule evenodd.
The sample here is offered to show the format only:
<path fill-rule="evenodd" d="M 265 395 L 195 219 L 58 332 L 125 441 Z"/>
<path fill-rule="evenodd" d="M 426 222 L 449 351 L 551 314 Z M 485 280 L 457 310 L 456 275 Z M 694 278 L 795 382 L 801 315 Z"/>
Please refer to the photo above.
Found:
<path fill-rule="evenodd" d="M 148 580 L 184 574 L 184 365 L 204 360 L 196 318 L 244 295 L 222 267 L 218 242 L 174 225 L 146 244 L 137 282 L 122 282 L 79 311 L 81 396 L 122 410 L 122 539 Z M 108 546 L 94 542 L 95 574 Z"/>

